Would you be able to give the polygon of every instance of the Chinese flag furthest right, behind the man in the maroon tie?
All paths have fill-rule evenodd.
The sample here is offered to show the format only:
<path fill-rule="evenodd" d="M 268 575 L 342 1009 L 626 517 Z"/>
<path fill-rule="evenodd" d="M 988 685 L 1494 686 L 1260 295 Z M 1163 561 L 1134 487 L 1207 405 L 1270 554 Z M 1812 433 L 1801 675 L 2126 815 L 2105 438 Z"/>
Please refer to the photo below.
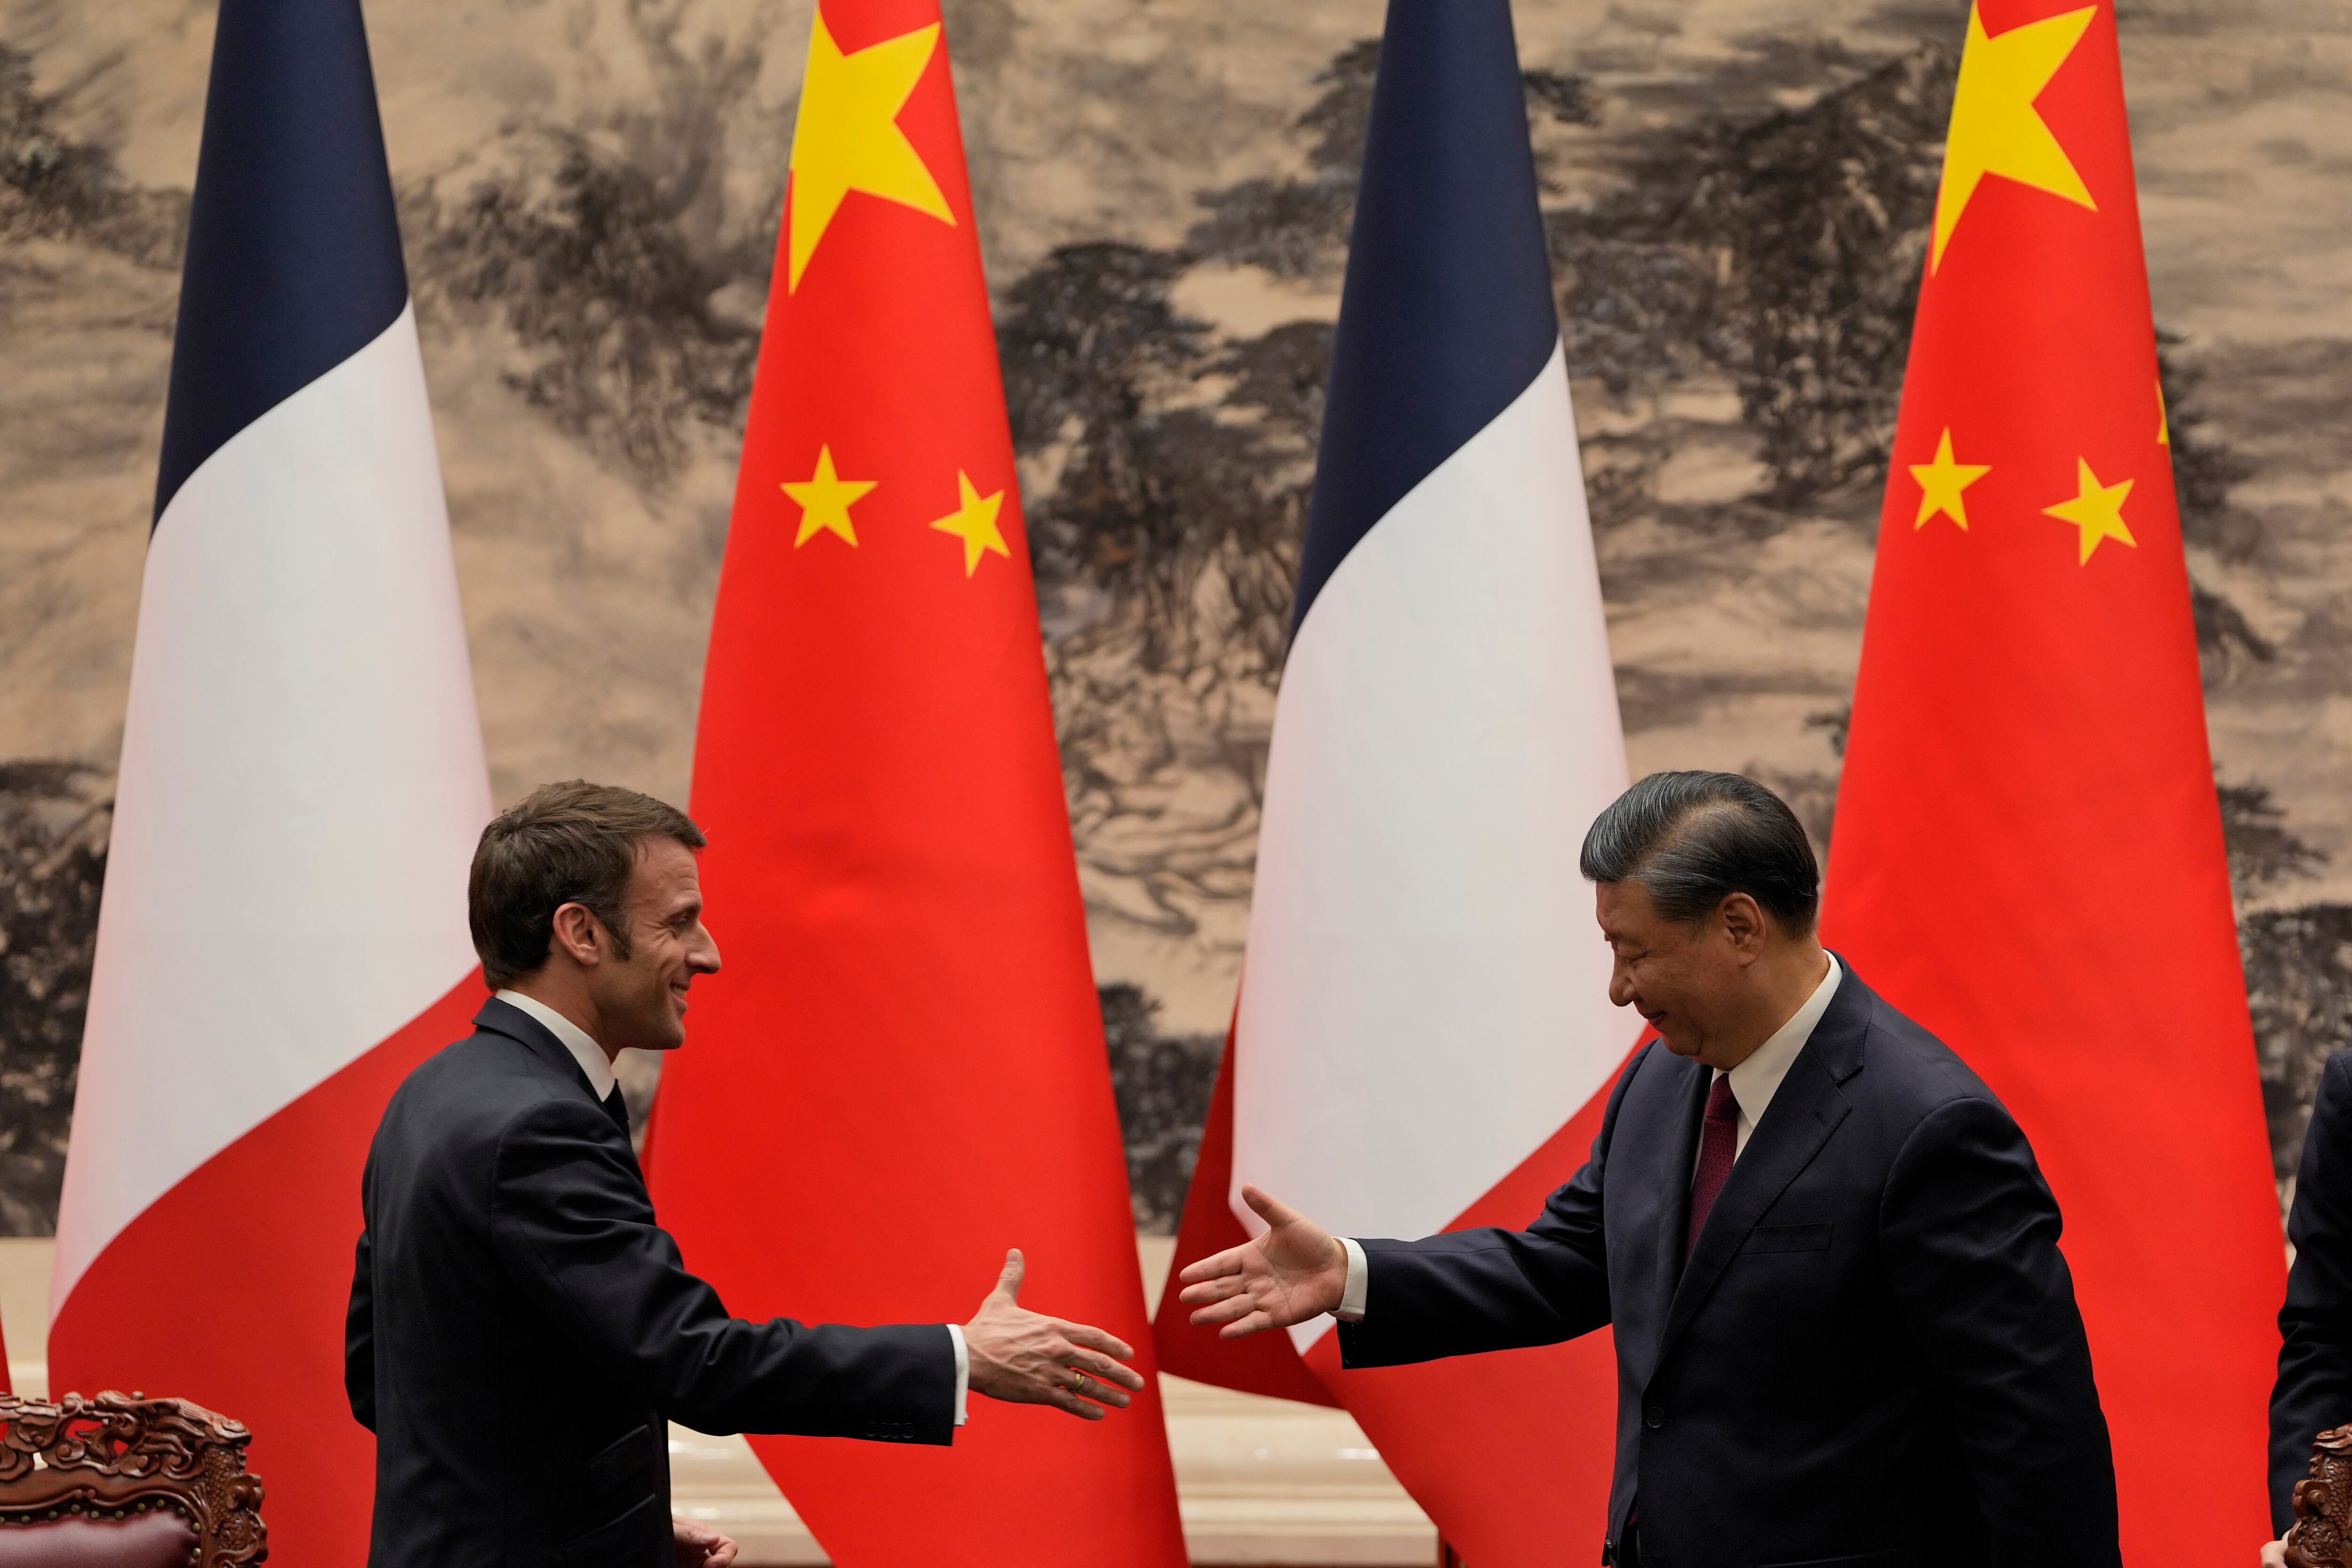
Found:
<path fill-rule="evenodd" d="M 2124 1559 L 2251 1561 L 2286 1281 L 2105 5 L 1969 16 L 1825 929 L 2032 1138 Z"/>

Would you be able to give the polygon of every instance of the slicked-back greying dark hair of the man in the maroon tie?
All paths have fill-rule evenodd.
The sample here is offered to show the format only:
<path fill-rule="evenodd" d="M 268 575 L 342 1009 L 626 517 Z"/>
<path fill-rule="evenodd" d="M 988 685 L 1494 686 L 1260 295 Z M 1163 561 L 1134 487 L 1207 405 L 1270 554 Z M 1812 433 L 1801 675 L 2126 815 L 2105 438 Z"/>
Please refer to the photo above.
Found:
<path fill-rule="evenodd" d="M 1602 811 L 1581 870 L 1639 882 L 1658 914 L 1691 924 L 1748 893 L 1795 933 L 1820 914 L 1820 865 L 1778 795 L 1738 773 L 1651 773 Z"/>

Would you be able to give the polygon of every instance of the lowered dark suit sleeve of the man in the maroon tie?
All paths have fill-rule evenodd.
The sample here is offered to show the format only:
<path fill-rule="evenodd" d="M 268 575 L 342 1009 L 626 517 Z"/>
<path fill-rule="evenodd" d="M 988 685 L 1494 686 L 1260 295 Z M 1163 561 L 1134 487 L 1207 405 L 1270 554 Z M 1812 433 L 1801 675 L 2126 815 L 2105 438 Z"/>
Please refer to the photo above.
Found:
<path fill-rule="evenodd" d="M 1896 1314 L 1940 1382 L 2002 1563 L 2119 1563 L 2114 1455 L 2058 1199 L 2009 1112 L 1912 1128 L 1879 1204 Z"/>

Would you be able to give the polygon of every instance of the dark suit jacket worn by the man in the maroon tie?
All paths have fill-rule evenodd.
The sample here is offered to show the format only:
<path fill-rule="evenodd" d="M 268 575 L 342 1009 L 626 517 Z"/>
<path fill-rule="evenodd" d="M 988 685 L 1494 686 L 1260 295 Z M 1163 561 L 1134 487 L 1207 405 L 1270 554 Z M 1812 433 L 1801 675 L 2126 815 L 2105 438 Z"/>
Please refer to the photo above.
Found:
<path fill-rule="evenodd" d="M 1364 1241 L 1345 1366 L 1611 1324 L 1609 1544 L 1644 1568 L 2119 1563 L 2058 1204 L 2025 1133 L 1846 969 L 1684 1265 L 1712 1072 L 1644 1048 L 1524 1232 Z"/>

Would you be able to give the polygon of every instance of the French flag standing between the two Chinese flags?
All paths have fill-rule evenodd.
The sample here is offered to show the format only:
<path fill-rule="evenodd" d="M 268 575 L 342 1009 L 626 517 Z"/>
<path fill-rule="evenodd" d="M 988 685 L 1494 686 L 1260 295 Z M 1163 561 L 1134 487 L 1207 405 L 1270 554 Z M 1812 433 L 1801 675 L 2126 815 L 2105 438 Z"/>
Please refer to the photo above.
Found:
<path fill-rule="evenodd" d="M 1336 1234 L 1541 1211 L 1639 1027 L 1576 865 L 1623 788 L 1510 5 L 1392 0 L 1178 1269 L 1263 1229 L 1242 1182 Z M 1463 1561 L 1599 1549 L 1604 1333 L 1343 1373 L 1331 1319 L 1223 1342 L 1174 1291 L 1164 1371 L 1343 1403 Z"/>

